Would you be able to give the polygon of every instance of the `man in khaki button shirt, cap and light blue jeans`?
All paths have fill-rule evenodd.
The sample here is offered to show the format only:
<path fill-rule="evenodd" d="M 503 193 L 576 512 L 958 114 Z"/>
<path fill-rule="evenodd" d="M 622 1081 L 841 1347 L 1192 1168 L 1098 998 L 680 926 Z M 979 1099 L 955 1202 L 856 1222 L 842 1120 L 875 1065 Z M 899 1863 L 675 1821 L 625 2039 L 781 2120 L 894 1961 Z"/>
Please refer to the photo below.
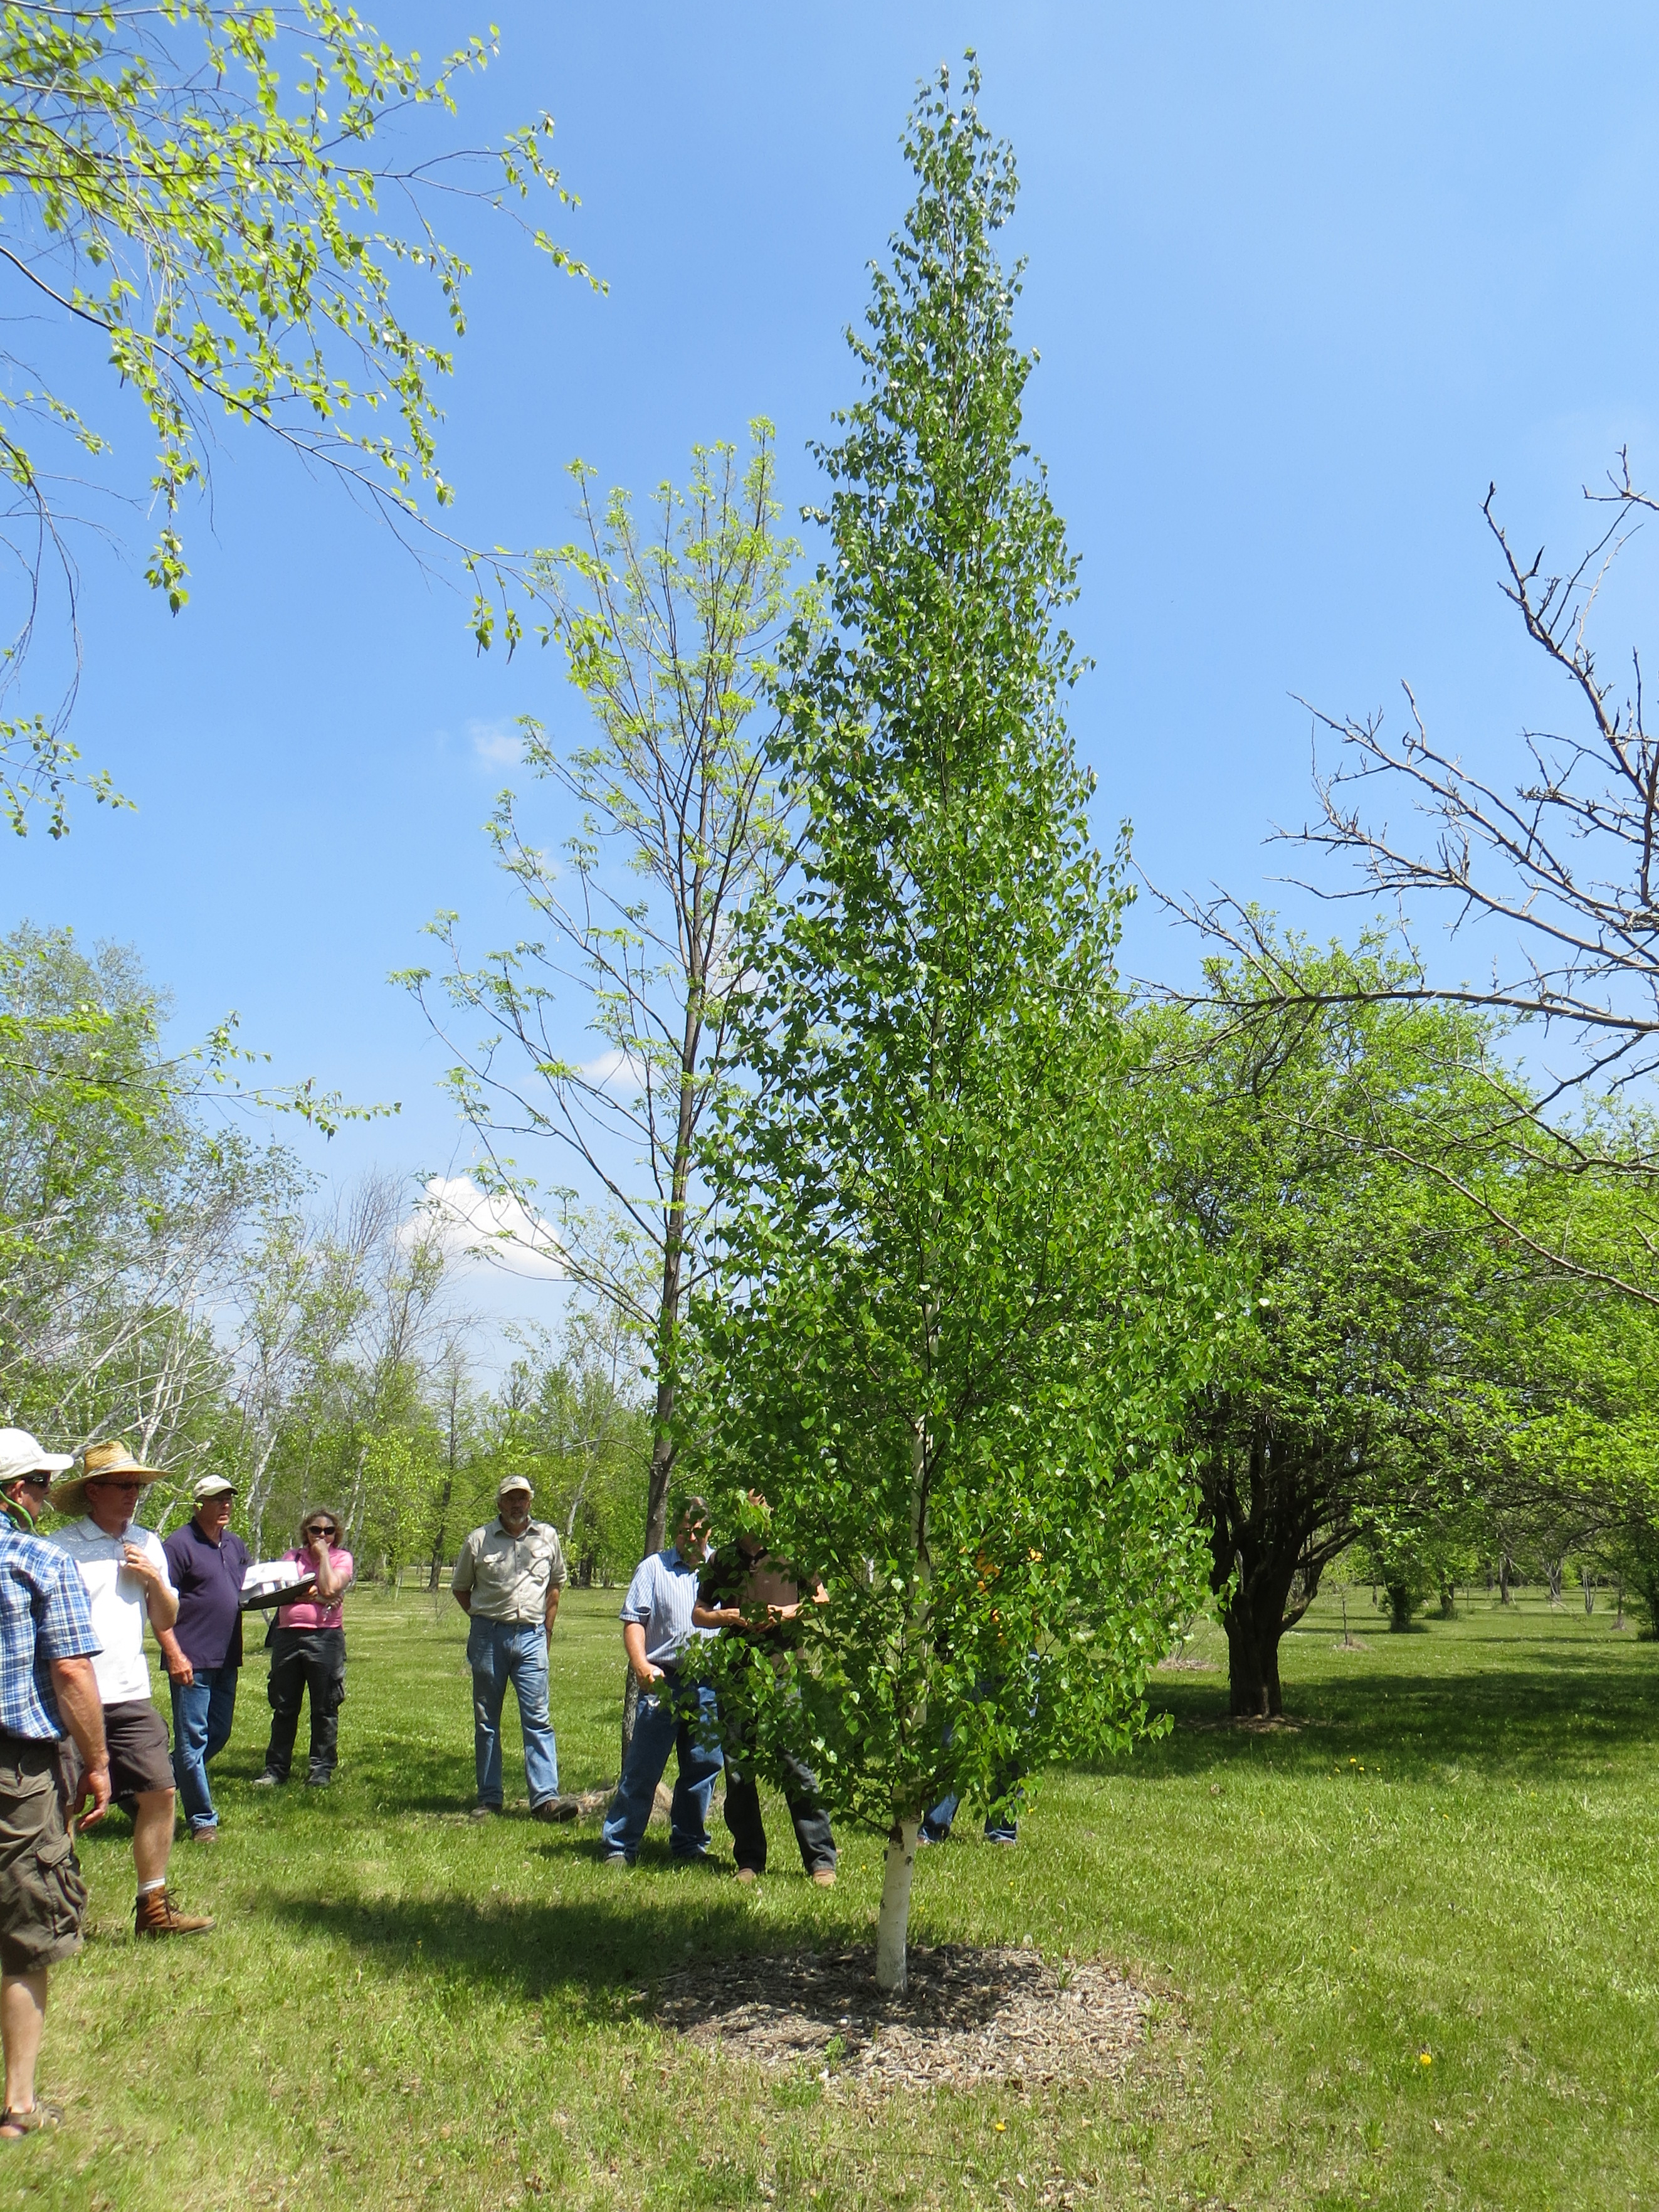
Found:
<path fill-rule="evenodd" d="M 546 1712 L 546 1641 L 560 1590 L 571 1579 L 557 1531 L 531 1520 L 535 1491 L 524 1475 L 504 1475 L 500 1513 L 460 1546 L 449 1588 L 471 1619 L 467 1663 L 473 1670 L 476 1820 L 502 1809 L 502 1701 L 518 1697 L 524 1730 L 524 1778 L 538 1820 L 568 1818 L 560 1803 L 560 1747 Z"/>

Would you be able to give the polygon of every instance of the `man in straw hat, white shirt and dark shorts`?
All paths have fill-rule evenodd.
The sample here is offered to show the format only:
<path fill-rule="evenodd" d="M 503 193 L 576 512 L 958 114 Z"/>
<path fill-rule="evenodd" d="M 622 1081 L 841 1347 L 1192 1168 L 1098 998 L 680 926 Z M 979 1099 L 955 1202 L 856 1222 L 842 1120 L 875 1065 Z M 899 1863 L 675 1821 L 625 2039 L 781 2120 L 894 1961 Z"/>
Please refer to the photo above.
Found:
<path fill-rule="evenodd" d="M 122 1442 L 88 1444 L 82 1471 L 51 1493 L 60 1513 L 80 1515 L 73 1526 L 55 1531 L 53 1544 L 80 1566 L 93 1628 L 104 1646 L 93 1659 L 93 1672 L 104 1701 L 111 1794 L 133 1814 L 133 1927 L 139 1936 L 201 1936 L 212 1920 L 181 1913 L 166 1887 L 173 1851 L 173 1752 L 166 1723 L 150 1699 L 144 1657 L 146 1617 L 157 1637 L 179 1617 L 166 1553 L 133 1517 L 139 1491 L 159 1473 L 159 1467 L 139 1467 Z"/>

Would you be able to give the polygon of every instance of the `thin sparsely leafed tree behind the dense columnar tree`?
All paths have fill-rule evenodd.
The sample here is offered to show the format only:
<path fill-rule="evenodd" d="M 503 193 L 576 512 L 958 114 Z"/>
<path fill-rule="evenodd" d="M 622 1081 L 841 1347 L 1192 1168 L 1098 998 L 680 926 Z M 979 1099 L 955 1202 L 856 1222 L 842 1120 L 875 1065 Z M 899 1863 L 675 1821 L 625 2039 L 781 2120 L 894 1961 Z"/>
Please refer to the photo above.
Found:
<path fill-rule="evenodd" d="M 531 1237 L 544 1256 L 555 1234 L 568 1276 L 648 1347 L 646 1551 L 666 1526 L 675 1336 L 708 1267 L 699 1130 L 737 1075 L 739 922 L 790 860 L 754 719 L 785 628 L 810 611 L 790 586 L 799 549 L 776 531 L 772 427 L 754 422 L 752 438 L 748 465 L 730 445 L 697 447 L 690 484 L 657 489 L 650 529 L 622 491 L 597 509 L 591 471 L 573 469 L 586 542 L 542 555 L 535 584 L 542 637 L 564 648 L 597 737 L 557 748 L 540 723 L 522 728 L 526 765 L 575 801 L 580 827 L 560 863 L 526 836 L 513 792 L 491 821 L 544 936 L 469 967 L 442 914 L 431 933 L 447 967 L 403 978 L 456 1053 L 478 1175 L 511 1201 L 500 1219 L 526 1223 L 502 1243 Z M 453 1013 L 493 1033 L 460 1042 Z M 577 1181 L 544 1186 L 515 1157 L 526 1141 Z"/>

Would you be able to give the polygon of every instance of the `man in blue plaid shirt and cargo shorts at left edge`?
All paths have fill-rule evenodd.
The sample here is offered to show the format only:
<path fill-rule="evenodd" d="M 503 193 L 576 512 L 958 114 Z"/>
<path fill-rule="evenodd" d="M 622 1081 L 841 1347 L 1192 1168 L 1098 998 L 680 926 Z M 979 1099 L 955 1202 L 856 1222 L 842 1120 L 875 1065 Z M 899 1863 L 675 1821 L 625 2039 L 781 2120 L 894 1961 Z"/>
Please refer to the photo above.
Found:
<path fill-rule="evenodd" d="M 104 1705 L 93 1674 L 93 1615 L 75 1562 L 33 1533 L 40 1475 L 62 1460 L 24 1429 L 0 1429 L 0 2039 L 7 2104 L 0 2139 L 55 2128 L 35 2101 L 46 1969 L 80 1951 L 86 1882 L 64 1820 L 58 1752 L 82 1761 L 75 1814 L 108 1805 Z"/>

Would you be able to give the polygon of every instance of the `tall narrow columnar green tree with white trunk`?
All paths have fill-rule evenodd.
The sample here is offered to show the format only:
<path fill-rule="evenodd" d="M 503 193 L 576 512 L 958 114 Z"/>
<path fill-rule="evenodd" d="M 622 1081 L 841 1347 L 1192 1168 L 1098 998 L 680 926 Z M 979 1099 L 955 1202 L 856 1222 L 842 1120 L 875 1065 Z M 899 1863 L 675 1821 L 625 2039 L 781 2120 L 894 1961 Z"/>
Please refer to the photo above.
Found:
<path fill-rule="evenodd" d="M 1020 436 L 1015 170 L 975 93 L 940 73 L 911 115 L 865 396 L 818 456 L 832 628 L 796 633 L 776 748 L 801 872 L 710 1159 L 726 1279 L 686 1413 L 825 1577 L 748 1692 L 887 1838 L 885 1989 L 922 1812 L 1126 1745 L 1199 1586 L 1192 1263 L 1119 1084 L 1121 894 L 1060 712 L 1075 564 Z"/>

